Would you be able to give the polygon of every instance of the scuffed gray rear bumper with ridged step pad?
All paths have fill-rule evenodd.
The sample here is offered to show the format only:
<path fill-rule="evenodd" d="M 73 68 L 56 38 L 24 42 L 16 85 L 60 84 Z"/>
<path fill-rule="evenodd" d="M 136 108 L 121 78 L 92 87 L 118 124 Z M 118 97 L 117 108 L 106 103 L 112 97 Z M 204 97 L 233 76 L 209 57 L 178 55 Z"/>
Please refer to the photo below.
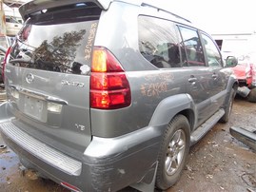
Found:
<path fill-rule="evenodd" d="M 31 137 L 13 120 L 8 103 L 1 105 L 0 130 L 6 144 L 21 163 L 54 182 L 68 182 L 81 191 L 116 191 L 153 179 L 162 127 L 147 127 L 118 138 L 93 137 L 82 159 L 76 159 Z"/>

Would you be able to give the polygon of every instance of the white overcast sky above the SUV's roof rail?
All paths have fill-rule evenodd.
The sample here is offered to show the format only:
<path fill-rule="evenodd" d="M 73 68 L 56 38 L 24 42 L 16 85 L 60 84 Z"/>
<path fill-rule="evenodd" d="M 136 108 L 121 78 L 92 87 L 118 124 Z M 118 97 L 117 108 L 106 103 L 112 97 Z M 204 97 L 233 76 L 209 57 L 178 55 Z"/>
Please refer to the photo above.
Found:
<path fill-rule="evenodd" d="M 209 33 L 256 31 L 255 0 L 165 0 L 164 5 Z"/>

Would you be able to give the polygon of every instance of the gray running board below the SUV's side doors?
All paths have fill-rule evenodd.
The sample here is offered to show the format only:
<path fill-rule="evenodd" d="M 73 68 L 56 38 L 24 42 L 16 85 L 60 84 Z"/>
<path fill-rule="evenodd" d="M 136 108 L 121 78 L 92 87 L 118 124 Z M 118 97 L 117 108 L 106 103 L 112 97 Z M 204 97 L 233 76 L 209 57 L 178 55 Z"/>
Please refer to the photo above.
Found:
<path fill-rule="evenodd" d="M 190 136 L 190 145 L 196 144 L 201 138 L 203 138 L 207 132 L 218 123 L 223 117 L 225 111 L 223 108 L 218 110 L 212 115 L 203 125 L 200 125 Z"/>

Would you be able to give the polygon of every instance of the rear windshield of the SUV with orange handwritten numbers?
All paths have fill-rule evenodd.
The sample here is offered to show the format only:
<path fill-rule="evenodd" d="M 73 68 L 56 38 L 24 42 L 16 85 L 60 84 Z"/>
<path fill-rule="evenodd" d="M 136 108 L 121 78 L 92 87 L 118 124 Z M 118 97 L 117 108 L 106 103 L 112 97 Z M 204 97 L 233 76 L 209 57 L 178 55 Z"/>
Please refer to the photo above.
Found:
<path fill-rule="evenodd" d="M 87 74 L 101 10 L 94 4 L 32 15 L 18 34 L 10 64 Z"/>

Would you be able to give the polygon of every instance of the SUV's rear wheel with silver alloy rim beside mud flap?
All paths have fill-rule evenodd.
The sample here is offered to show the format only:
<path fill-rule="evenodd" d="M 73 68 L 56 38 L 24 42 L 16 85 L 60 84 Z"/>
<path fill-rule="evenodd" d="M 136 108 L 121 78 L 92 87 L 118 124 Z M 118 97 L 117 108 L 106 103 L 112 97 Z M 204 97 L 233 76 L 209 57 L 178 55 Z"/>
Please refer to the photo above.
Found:
<path fill-rule="evenodd" d="M 184 115 L 175 116 L 167 125 L 161 144 L 156 174 L 156 187 L 166 190 L 181 177 L 190 145 L 190 125 Z"/>

